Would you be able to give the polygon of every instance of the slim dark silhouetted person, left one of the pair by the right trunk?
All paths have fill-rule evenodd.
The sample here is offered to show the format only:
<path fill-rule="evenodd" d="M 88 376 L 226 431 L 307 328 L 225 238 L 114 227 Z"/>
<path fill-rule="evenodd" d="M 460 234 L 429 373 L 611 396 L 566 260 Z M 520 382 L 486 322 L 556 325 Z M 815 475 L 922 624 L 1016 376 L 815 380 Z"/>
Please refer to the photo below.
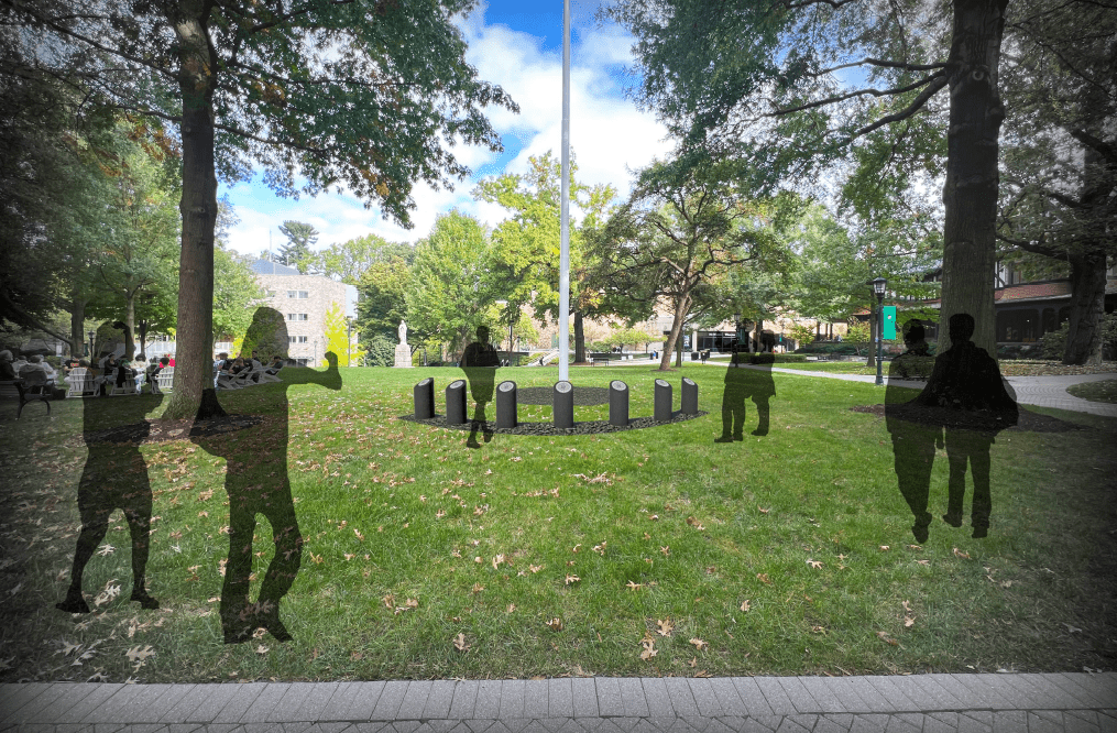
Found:
<path fill-rule="evenodd" d="M 930 469 L 935 447 L 943 446 L 943 428 L 932 410 L 909 401 L 911 390 L 897 382 L 916 375 L 930 374 L 934 359 L 928 353 L 926 331 L 919 321 L 909 321 L 904 327 L 907 350 L 892 360 L 888 368 L 888 388 L 885 391 L 885 418 L 892 437 L 892 456 L 896 479 L 904 501 L 915 515 L 911 533 L 917 542 L 926 542 L 932 515 L 927 511 L 930 494 Z"/>

